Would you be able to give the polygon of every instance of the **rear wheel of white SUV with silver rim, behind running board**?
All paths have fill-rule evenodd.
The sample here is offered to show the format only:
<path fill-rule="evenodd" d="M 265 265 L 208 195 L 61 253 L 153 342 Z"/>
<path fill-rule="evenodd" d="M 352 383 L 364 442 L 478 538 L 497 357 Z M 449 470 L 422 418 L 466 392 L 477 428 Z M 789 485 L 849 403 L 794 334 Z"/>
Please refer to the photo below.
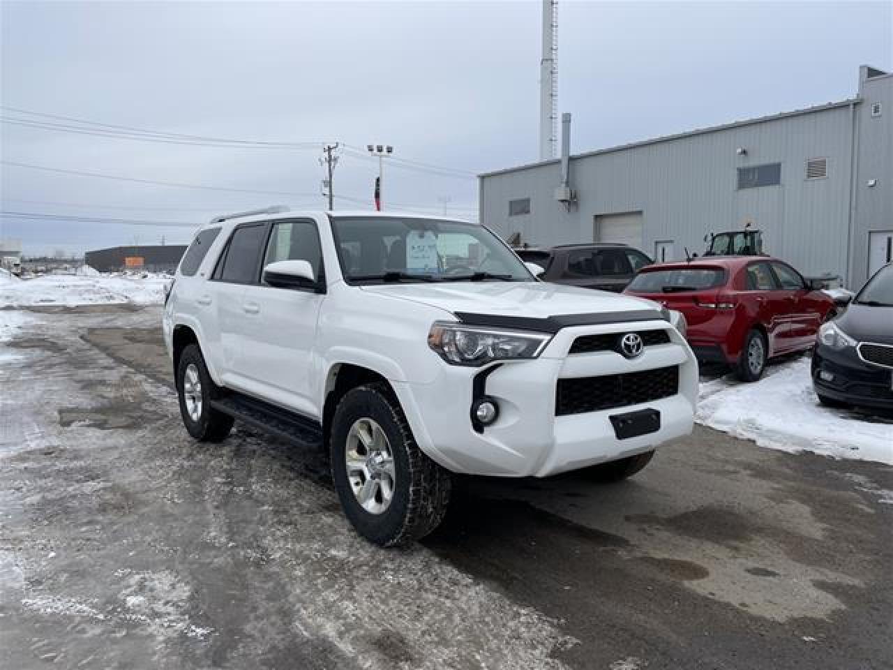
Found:
<path fill-rule="evenodd" d="M 232 429 L 232 417 L 211 407 L 215 392 L 201 349 L 195 344 L 188 345 L 180 354 L 177 366 L 179 414 L 189 434 L 201 442 L 225 440 Z"/>

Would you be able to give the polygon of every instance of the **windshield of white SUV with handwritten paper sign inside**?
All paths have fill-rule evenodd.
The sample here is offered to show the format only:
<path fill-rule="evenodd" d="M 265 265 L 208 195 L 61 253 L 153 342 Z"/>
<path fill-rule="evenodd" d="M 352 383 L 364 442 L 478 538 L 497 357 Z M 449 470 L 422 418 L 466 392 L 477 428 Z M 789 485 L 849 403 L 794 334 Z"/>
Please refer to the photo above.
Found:
<path fill-rule="evenodd" d="M 331 222 L 346 281 L 534 281 L 511 249 L 475 223 L 399 216 Z"/>

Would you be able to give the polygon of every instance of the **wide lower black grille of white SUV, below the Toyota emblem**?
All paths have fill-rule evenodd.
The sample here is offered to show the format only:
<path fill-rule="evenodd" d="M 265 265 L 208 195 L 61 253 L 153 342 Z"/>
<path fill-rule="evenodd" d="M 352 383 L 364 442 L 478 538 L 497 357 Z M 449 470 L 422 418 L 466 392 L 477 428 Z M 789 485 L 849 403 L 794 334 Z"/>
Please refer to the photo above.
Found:
<path fill-rule="evenodd" d="M 678 392 L 678 365 L 640 373 L 560 379 L 555 389 L 555 415 L 579 415 L 638 405 L 669 398 Z"/>

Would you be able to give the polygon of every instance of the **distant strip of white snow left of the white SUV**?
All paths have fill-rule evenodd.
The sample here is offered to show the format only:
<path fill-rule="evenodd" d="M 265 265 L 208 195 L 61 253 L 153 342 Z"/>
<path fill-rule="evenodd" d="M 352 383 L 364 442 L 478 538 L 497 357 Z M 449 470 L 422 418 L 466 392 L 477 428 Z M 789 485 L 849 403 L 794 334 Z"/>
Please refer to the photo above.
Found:
<path fill-rule="evenodd" d="M 91 268 L 92 270 L 92 268 Z M 94 271 L 95 272 L 95 271 Z M 164 274 L 47 274 L 31 280 L 0 277 L 0 308 L 41 305 L 153 305 L 164 300 Z"/>

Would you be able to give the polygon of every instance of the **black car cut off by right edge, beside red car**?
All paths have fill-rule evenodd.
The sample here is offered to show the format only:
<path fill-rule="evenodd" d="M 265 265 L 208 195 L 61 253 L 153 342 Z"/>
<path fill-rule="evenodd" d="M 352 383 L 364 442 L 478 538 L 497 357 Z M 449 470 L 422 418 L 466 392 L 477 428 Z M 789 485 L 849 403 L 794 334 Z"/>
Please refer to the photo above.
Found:
<path fill-rule="evenodd" d="M 822 325 L 813 384 L 823 405 L 893 410 L 893 264 L 874 274 L 846 312 Z"/>

